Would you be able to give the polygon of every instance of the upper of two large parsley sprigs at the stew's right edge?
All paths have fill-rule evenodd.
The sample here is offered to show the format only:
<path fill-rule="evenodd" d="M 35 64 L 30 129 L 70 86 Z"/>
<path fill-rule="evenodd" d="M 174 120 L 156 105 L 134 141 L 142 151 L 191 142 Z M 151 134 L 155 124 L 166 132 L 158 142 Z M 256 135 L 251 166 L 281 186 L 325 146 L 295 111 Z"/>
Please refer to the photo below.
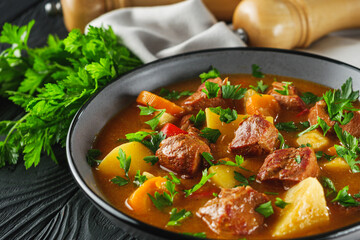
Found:
<path fill-rule="evenodd" d="M 323 98 L 330 119 L 338 121 L 341 125 L 349 123 L 353 118 L 354 114 L 351 111 L 359 110 L 351 104 L 359 98 L 359 91 L 353 91 L 351 78 L 346 80 L 341 86 L 341 90 L 329 90 L 323 95 Z"/>

